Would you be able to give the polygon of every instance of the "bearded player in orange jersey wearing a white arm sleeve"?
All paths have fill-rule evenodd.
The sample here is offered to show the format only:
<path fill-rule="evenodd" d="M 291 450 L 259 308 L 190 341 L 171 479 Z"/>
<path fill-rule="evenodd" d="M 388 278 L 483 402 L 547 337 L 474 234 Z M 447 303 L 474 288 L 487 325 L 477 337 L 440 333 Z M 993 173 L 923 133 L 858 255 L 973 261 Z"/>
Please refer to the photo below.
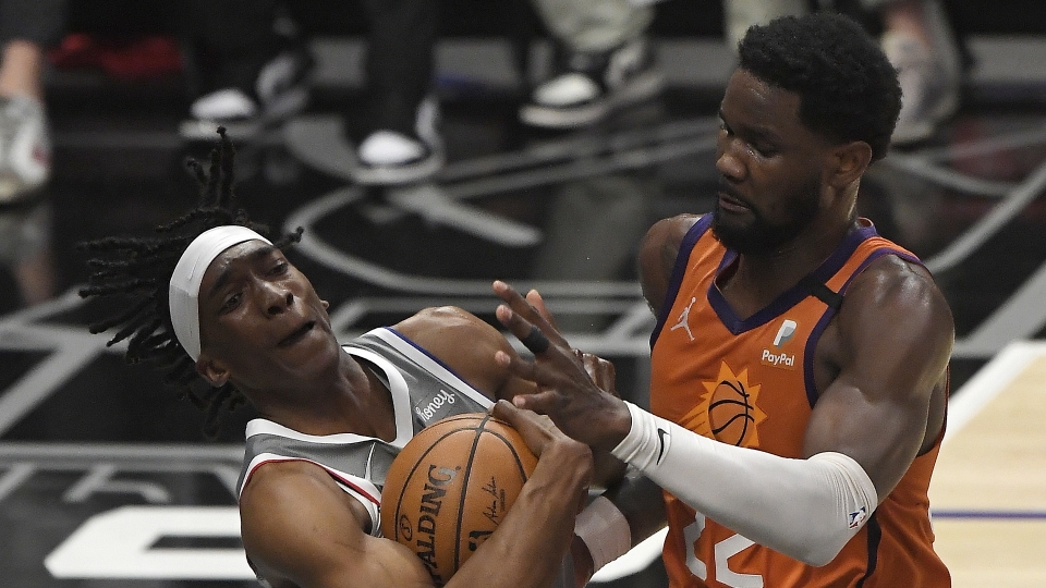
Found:
<path fill-rule="evenodd" d="M 498 318 L 537 356 L 497 354 L 540 385 L 515 404 L 664 489 L 664 512 L 610 527 L 634 543 L 664 516 L 673 587 L 950 586 L 927 487 L 951 313 L 919 259 L 854 211 L 899 108 L 896 72 L 853 22 L 747 32 L 719 111 L 715 210 L 661 220 L 642 244 L 650 412 L 584 377 L 537 293 L 495 283 Z"/>

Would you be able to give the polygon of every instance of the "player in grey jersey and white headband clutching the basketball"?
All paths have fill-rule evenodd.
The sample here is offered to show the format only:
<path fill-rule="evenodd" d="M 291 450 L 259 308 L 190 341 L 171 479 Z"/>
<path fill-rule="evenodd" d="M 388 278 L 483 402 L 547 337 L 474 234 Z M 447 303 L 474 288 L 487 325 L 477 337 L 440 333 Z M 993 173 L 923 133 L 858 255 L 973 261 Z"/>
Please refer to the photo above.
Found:
<path fill-rule="evenodd" d="M 533 384 L 491 359 L 495 351 L 514 355 L 504 336 L 457 308 L 426 309 L 340 343 L 327 303 L 281 252 L 300 233 L 272 243 L 231 207 L 231 159 L 222 136 L 210 177 L 196 167 L 206 184 L 200 207 L 156 237 L 88 244 L 99 271 L 82 294 L 118 295 L 124 305 L 92 330 L 114 329 L 113 343 L 129 340 L 129 359 L 169 368 L 208 424 L 238 401 L 257 409 L 239 502 L 247 559 L 266 585 L 433 586 L 422 559 L 380 537 L 388 466 L 428 424 Z M 592 364 L 594 377 L 612 380 L 600 365 Z M 574 586 L 570 546 L 599 530 L 598 517 L 585 524 L 589 511 L 575 525 L 592 452 L 507 402 L 492 412 L 539 461 L 499 528 L 446 586 Z"/>

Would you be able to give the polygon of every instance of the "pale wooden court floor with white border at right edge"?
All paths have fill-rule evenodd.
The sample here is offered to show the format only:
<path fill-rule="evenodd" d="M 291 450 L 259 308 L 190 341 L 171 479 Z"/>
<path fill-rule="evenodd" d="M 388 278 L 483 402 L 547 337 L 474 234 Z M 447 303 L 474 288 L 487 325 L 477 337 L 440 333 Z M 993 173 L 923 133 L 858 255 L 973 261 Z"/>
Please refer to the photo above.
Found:
<path fill-rule="evenodd" d="M 1046 343 L 1008 345 L 963 387 L 931 486 L 956 588 L 1046 586 Z"/>

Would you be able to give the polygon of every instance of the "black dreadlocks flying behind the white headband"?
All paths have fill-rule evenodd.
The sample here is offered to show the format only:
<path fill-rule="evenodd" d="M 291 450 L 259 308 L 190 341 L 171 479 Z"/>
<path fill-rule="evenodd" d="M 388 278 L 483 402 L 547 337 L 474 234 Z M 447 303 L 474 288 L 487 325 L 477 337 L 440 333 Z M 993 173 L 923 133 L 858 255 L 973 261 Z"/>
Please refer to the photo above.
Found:
<path fill-rule="evenodd" d="M 214 388 L 196 372 L 192 357 L 174 335 L 168 303 L 168 287 L 182 254 L 203 232 L 215 226 L 239 224 L 262 235 L 263 224 L 252 222 L 247 213 L 235 207 L 235 148 L 218 128 L 219 138 L 210 152 L 210 166 L 204 169 L 195 159 L 186 160 L 188 171 L 199 184 L 199 203 L 181 218 L 157 226 L 154 236 L 110 236 L 81 243 L 81 250 L 96 255 L 87 261 L 92 268 L 88 285 L 80 291 L 84 298 L 130 298 L 124 310 L 89 324 L 92 333 L 115 330 L 107 346 L 127 340 L 124 358 L 127 363 L 150 362 L 165 371 L 165 383 L 179 397 L 188 399 L 204 412 L 204 434 L 215 438 L 221 430 L 223 409 L 231 412 L 246 402 L 232 383 Z M 273 243 L 288 247 L 301 240 L 302 229 Z"/>

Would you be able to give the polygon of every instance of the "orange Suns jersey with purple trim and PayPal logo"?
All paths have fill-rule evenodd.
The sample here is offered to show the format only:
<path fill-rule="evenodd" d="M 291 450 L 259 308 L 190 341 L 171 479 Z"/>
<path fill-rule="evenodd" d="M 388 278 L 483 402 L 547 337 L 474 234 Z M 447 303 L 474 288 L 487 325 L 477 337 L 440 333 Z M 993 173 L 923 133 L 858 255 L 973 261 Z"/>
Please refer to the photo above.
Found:
<path fill-rule="evenodd" d="M 716 279 L 737 254 L 711 234 L 711 215 L 683 240 L 650 339 L 650 408 L 698 434 L 802 457 L 814 350 L 851 280 L 883 255 L 919 262 L 862 220 L 831 257 L 768 307 L 741 319 Z M 950 586 L 933 550 L 926 495 L 940 439 L 920 455 L 867 524 L 828 565 L 808 566 L 756 544 L 666 492 L 665 565 L 673 587 L 938 588 Z M 694 476 L 701 476 L 694 471 Z M 725 481 L 729 483 L 729 481 Z M 773 485 L 774 480 L 766 480 Z M 723 488 L 729 492 L 729 488 Z M 851 515 L 854 525 L 865 513 Z"/>

